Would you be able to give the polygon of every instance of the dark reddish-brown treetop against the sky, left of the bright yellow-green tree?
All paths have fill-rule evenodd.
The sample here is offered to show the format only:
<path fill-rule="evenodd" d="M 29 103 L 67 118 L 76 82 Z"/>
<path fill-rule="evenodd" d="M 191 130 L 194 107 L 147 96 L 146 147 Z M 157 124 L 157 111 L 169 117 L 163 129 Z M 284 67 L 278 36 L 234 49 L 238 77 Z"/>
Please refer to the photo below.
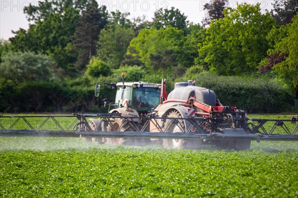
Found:
<path fill-rule="evenodd" d="M 210 24 L 210 21 L 224 18 L 224 9 L 228 0 L 212 0 L 210 3 L 205 3 L 204 10 L 207 10 L 208 17 L 202 21 L 203 27 Z"/>

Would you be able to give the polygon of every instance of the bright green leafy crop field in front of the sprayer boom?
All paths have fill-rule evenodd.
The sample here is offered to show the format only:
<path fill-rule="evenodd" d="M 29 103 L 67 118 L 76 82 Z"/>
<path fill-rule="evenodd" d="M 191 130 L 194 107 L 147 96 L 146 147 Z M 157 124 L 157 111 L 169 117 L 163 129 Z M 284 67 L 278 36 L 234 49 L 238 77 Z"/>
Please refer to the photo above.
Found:
<path fill-rule="evenodd" d="M 0 197 L 297 198 L 298 143 L 173 150 L 0 137 Z"/>

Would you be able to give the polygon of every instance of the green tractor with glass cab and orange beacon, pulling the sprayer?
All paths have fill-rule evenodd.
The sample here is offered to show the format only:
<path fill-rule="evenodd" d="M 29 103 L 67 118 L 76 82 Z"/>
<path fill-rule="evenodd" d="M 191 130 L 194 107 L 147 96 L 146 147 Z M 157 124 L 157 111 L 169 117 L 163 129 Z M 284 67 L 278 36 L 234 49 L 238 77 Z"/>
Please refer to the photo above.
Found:
<path fill-rule="evenodd" d="M 161 84 L 146 82 L 124 82 L 125 74 L 122 73 L 122 82 L 103 83 L 117 89 L 115 102 L 107 102 L 104 99 L 104 106 L 108 107 L 108 112 L 119 117 L 111 118 L 112 125 L 101 122 L 100 119 L 89 119 L 89 126 L 92 130 L 99 131 L 140 131 L 144 127 L 144 119 L 136 117 L 146 117 L 159 104 L 166 100 L 165 80 Z M 100 85 L 95 86 L 95 96 L 99 96 Z M 133 118 L 130 118 L 133 117 Z M 101 123 L 101 126 L 98 126 Z M 149 126 L 148 130 L 149 131 Z M 101 142 L 107 144 L 129 144 L 143 146 L 148 142 L 145 139 L 122 139 L 122 138 L 87 138 L 87 141 Z"/>

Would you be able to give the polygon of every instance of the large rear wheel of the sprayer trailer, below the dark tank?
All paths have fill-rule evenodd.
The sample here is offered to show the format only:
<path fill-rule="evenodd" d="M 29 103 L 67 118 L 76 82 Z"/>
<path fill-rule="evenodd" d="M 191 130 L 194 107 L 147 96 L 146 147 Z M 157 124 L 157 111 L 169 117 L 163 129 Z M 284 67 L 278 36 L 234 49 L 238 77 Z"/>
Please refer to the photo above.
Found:
<path fill-rule="evenodd" d="M 176 110 L 173 110 L 167 116 L 168 118 L 181 118 L 182 116 Z M 164 126 L 167 126 L 171 122 L 167 119 Z M 178 120 L 178 123 L 172 123 L 167 133 L 184 133 L 185 124 L 183 120 Z M 184 139 L 163 139 L 164 148 L 175 148 L 175 149 L 198 149 L 202 147 L 202 140 L 184 140 Z"/>

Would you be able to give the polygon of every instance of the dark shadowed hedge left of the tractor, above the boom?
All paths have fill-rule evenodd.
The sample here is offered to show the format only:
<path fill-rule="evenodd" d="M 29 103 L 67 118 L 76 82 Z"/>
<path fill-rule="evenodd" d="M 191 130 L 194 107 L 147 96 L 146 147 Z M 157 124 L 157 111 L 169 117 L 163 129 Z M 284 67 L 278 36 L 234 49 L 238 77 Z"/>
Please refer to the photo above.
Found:
<path fill-rule="evenodd" d="M 1 81 L 0 112 L 100 112 L 94 86 L 71 86 L 58 82 L 26 82 L 13 86 Z"/>

